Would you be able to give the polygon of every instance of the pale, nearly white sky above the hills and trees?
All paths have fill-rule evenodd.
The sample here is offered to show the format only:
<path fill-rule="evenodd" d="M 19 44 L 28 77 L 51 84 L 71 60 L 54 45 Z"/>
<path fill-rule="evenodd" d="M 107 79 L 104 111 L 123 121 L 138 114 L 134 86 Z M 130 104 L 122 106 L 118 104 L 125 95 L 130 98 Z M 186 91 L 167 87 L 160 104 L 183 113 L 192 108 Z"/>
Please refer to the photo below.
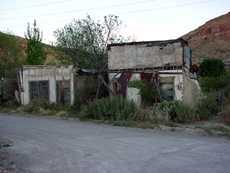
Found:
<path fill-rule="evenodd" d="M 206 21 L 230 12 L 230 0 L 0 0 L 0 31 L 24 37 L 27 23 L 37 20 L 43 42 L 53 32 L 89 14 L 108 14 L 123 22 L 121 34 L 135 41 L 178 38 Z"/>

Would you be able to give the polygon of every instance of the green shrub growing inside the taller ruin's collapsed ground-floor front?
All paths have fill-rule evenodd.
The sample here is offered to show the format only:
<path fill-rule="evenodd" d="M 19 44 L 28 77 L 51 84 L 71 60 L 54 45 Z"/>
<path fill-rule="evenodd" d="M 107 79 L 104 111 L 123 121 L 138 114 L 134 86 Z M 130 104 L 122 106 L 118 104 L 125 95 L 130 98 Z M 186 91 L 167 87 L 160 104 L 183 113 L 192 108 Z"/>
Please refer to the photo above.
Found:
<path fill-rule="evenodd" d="M 152 105 L 154 98 L 158 96 L 157 90 L 150 83 L 142 80 L 129 81 L 128 86 L 140 90 L 142 101 L 146 105 Z"/>

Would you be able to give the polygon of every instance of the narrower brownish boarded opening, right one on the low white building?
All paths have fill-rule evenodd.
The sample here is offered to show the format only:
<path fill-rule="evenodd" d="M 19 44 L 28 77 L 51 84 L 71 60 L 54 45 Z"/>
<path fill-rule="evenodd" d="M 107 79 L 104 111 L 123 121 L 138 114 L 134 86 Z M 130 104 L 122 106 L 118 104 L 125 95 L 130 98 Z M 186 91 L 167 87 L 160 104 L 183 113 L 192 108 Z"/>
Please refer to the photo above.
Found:
<path fill-rule="evenodd" d="M 70 81 L 57 81 L 56 94 L 58 104 L 70 104 Z"/>

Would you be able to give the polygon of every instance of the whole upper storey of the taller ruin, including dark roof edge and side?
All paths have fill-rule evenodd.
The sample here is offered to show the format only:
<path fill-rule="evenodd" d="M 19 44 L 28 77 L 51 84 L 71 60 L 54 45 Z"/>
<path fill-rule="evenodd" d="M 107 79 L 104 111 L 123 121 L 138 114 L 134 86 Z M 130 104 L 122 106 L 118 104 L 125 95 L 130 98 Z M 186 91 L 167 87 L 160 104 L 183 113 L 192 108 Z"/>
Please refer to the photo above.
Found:
<path fill-rule="evenodd" d="M 111 44 L 108 47 L 109 70 L 181 67 L 191 64 L 191 52 L 182 39 L 168 41 Z"/>

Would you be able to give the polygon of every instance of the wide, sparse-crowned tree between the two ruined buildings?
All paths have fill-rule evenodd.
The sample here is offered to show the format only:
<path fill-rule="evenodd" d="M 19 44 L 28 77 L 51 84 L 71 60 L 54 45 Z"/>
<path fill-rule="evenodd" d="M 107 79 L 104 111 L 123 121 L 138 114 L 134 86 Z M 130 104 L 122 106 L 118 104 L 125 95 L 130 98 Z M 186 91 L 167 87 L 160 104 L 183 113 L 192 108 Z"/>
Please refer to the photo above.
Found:
<path fill-rule="evenodd" d="M 121 24 L 115 15 L 104 16 L 101 21 L 88 15 L 85 19 L 73 20 L 54 34 L 57 46 L 67 48 L 74 64 L 82 68 L 104 69 L 107 66 L 107 45 L 125 40 L 119 34 Z"/>

